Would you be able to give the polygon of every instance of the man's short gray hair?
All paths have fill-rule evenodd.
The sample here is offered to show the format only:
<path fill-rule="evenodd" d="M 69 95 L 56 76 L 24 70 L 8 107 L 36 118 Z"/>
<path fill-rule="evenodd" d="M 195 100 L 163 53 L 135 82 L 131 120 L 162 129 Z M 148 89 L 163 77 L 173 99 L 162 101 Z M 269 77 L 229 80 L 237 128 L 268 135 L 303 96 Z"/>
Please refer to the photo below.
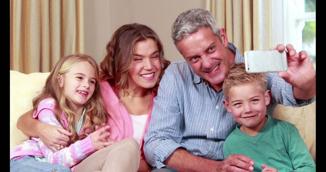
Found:
<path fill-rule="evenodd" d="M 172 25 L 171 37 L 176 48 L 179 50 L 178 41 L 197 32 L 201 27 L 210 27 L 213 34 L 221 40 L 220 29 L 212 13 L 201 8 L 191 8 L 181 13 Z"/>

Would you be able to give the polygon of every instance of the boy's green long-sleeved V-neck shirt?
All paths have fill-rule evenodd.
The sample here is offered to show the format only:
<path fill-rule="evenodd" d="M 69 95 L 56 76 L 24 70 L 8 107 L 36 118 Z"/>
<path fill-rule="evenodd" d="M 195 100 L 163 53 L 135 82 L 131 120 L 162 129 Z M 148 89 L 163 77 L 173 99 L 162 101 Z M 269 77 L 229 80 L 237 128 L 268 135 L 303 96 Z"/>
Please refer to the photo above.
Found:
<path fill-rule="evenodd" d="M 266 124 L 254 137 L 242 132 L 240 126 L 237 125 L 225 140 L 224 158 L 230 154 L 246 155 L 255 162 L 255 172 L 261 172 L 261 164 L 279 172 L 316 171 L 315 162 L 295 125 L 268 116 Z"/>

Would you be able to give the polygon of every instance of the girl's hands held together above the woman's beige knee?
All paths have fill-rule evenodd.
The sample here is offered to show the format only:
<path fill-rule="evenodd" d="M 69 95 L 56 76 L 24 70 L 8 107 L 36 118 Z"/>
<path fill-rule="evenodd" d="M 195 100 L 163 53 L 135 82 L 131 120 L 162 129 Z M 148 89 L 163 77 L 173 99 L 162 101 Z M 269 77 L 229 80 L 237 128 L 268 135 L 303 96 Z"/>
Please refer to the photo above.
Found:
<path fill-rule="evenodd" d="M 96 129 L 97 130 L 93 132 L 91 136 L 91 141 L 96 151 L 116 142 L 115 140 L 109 138 L 111 133 L 109 132 L 110 127 L 108 125 L 105 125 L 100 129 L 97 127 Z"/>

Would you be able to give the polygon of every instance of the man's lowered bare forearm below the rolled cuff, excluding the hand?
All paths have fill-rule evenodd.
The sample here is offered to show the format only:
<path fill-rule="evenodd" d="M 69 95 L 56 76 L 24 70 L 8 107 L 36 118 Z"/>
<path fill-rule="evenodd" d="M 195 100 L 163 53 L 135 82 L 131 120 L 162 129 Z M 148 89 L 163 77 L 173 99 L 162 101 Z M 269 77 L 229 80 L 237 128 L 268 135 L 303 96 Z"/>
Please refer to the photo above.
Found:
<path fill-rule="evenodd" d="M 217 171 L 220 162 L 202 158 L 185 151 L 176 149 L 169 158 L 164 161 L 164 165 L 170 166 L 180 172 L 182 171 Z"/>

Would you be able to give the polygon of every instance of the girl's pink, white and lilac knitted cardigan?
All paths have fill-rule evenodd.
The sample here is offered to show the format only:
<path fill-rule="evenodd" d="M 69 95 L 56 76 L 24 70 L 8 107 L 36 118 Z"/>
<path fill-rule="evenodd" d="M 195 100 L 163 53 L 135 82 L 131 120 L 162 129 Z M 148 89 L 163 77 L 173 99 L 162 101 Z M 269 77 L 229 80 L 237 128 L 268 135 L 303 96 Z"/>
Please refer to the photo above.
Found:
<path fill-rule="evenodd" d="M 37 118 L 47 124 L 55 125 L 64 129 L 68 129 L 67 118 L 62 113 L 62 124 L 54 116 L 55 100 L 46 98 L 42 100 L 37 110 L 33 113 L 33 118 Z M 89 132 L 87 129 L 86 132 Z M 83 126 L 79 132 L 79 136 L 83 134 Z M 26 140 L 23 144 L 10 149 L 10 160 L 12 158 L 22 158 L 27 155 L 39 156 L 47 159 L 47 162 L 53 164 L 61 164 L 70 167 L 72 170 L 75 165 L 84 160 L 87 156 L 94 153 L 96 150 L 91 142 L 91 134 L 82 140 L 78 140 L 57 152 L 51 151 L 44 145 L 40 138 L 32 137 L 31 140 Z"/>

